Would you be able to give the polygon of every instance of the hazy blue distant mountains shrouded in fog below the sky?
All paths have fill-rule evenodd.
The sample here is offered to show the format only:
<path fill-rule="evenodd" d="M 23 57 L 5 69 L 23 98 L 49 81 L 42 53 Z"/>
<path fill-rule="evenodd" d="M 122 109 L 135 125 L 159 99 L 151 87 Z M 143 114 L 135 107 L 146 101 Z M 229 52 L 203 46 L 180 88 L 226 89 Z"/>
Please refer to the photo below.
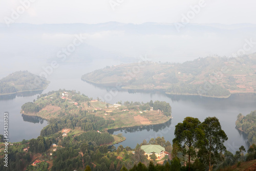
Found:
<path fill-rule="evenodd" d="M 0 24 L 1 55 L 44 60 L 72 44 L 75 35 L 87 37 L 66 62 L 93 59 L 135 61 L 147 55 L 153 61 L 184 62 L 209 55 L 230 56 L 245 39 L 256 40 L 255 24 L 187 24 L 177 31 L 171 23 L 124 24 Z M 256 51 L 256 46 L 250 51 Z M 129 58 L 129 60 L 127 60 Z"/>

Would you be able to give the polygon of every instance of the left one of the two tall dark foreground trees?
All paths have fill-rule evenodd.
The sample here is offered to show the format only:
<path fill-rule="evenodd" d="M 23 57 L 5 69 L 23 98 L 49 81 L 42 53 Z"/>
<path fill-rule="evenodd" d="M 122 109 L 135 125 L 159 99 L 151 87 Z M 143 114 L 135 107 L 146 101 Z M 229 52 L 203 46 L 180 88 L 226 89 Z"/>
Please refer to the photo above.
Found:
<path fill-rule="evenodd" d="M 190 161 L 196 157 L 195 148 L 200 147 L 204 139 L 201 122 L 198 118 L 186 117 L 182 123 L 175 126 L 174 135 L 173 144 L 177 143 L 181 146 L 184 143 L 182 153 L 188 155 L 188 170 L 190 170 Z"/>

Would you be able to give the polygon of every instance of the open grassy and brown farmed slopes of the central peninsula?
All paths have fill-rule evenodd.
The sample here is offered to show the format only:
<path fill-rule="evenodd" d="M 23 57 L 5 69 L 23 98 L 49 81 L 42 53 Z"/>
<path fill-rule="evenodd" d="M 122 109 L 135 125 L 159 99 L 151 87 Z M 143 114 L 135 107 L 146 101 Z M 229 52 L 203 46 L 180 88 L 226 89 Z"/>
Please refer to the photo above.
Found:
<path fill-rule="evenodd" d="M 120 106 L 119 108 L 106 108 L 106 103 L 97 101 L 91 102 L 87 101 L 76 101 L 73 98 L 72 92 L 68 92 L 68 99 L 61 99 L 61 93 L 57 95 L 53 93 L 48 96 L 40 97 L 35 101 L 35 104 L 41 105 L 45 104 L 46 106 L 40 110 L 38 113 L 26 113 L 21 111 L 25 115 L 39 116 L 44 119 L 50 118 L 59 118 L 63 117 L 60 113 L 65 113 L 68 111 L 69 114 L 78 114 L 79 110 L 87 111 L 89 114 L 93 114 L 105 119 L 114 120 L 114 124 L 111 124 L 108 128 L 114 129 L 119 127 L 130 127 L 130 126 L 139 126 L 139 125 L 151 125 L 164 123 L 169 120 L 168 117 L 163 115 L 162 112 L 158 111 L 146 111 L 142 114 L 139 113 L 139 109 L 128 110 L 126 106 Z M 90 102 L 90 106 L 87 105 L 87 102 Z M 78 102 L 78 105 L 75 105 L 73 102 Z M 110 104 L 109 104 L 110 105 Z M 95 108 L 100 108 L 101 110 L 95 111 Z M 111 113 L 106 113 L 105 111 L 110 110 Z M 125 111 L 123 111 L 125 110 Z M 105 115 L 107 114 L 107 115 Z M 65 113 L 65 115 L 67 115 Z M 136 118 L 138 117 L 139 118 Z M 135 118 L 134 118 L 135 117 Z"/>

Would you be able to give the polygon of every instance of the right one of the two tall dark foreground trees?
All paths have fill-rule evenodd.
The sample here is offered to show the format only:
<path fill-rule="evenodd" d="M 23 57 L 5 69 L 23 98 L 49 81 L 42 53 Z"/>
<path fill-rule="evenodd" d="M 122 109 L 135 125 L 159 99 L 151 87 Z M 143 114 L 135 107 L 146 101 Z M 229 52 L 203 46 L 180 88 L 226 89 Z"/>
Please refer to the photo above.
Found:
<path fill-rule="evenodd" d="M 202 123 L 205 134 L 205 141 L 202 149 L 207 152 L 209 170 L 211 168 L 211 157 L 218 158 L 220 152 L 224 152 L 226 147 L 224 142 L 228 139 L 225 132 L 221 129 L 219 119 L 207 117 Z"/>

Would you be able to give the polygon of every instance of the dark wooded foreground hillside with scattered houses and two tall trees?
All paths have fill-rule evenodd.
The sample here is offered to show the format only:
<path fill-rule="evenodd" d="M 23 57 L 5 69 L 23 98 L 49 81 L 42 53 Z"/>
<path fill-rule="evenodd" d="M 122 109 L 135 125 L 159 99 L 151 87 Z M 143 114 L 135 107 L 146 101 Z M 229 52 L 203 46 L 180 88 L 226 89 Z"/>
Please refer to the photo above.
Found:
<path fill-rule="evenodd" d="M 211 131 L 209 131 L 211 130 Z M 67 135 L 63 136 L 63 131 Z M 78 133 L 79 132 L 79 133 Z M 117 135 L 122 137 L 122 135 Z M 0 136 L 0 142 L 4 137 Z M 208 117 L 204 122 L 198 118 L 186 117 L 175 126 L 173 144 L 164 137 L 143 140 L 133 149 L 129 146 L 109 146 L 113 141 L 108 133 L 95 131 L 81 132 L 67 129 L 36 139 L 23 140 L 9 145 L 9 167 L 4 166 L 5 144 L 0 143 L 1 170 L 245 170 L 255 169 L 256 145 L 252 144 L 247 154 L 241 146 L 234 155 L 226 151 L 227 140 L 216 117 Z M 161 145 L 168 154 L 162 160 L 144 155 L 142 145 Z"/>

